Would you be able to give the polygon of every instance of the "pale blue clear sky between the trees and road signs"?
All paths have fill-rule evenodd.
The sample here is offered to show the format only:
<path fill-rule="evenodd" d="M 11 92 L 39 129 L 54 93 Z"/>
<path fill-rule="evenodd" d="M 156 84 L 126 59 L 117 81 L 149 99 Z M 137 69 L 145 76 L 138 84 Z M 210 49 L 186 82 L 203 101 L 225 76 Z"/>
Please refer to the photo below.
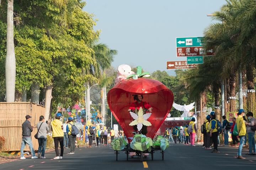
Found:
<path fill-rule="evenodd" d="M 112 66 L 142 66 L 150 73 L 165 70 L 166 61 L 185 61 L 176 57 L 176 37 L 203 36 L 207 17 L 225 0 L 86 0 L 84 11 L 98 19 L 99 43 L 118 51 Z"/>

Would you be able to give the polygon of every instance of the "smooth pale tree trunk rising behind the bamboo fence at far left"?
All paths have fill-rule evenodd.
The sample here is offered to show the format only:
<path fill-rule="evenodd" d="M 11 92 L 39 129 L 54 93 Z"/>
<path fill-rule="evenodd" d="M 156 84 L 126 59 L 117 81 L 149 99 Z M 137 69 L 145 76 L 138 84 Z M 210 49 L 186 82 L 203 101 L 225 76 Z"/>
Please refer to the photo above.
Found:
<path fill-rule="evenodd" d="M 14 0 L 7 0 L 7 36 L 5 58 L 6 102 L 14 102 L 15 100 L 16 61 L 14 51 L 13 3 Z"/>

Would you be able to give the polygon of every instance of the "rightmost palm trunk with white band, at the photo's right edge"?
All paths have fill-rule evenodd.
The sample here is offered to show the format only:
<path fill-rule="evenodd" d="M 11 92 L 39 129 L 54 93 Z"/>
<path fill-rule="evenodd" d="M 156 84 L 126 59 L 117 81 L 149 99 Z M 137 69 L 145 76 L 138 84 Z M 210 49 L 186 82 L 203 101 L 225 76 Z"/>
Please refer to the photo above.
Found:
<path fill-rule="evenodd" d="M 249 65 L 246 68 L 246 77 L 247 77 L 247 101 L 248 109 L 247 111 L 252 112 L 254 117 L 256 116 L 256 101 L 255 101 L 255 90 L 254 90 L 254 68 Z"/>

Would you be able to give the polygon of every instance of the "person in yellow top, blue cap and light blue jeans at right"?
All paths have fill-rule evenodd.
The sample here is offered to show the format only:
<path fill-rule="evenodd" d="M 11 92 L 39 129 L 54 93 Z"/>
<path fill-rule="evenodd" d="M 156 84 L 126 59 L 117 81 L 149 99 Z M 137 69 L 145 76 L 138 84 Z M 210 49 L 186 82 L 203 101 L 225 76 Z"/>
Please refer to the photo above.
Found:
<path fill-rule="evenodd" d="M 240 143 L 239 143 L 239 148 L 238 148 L 238 155 L 237 159 L 245 159 L 245 157 L 242 157 L 241 152 L 242 152 L 242 146 L 244 145 L 245 141 L 245 134 L 246 134 L 246 126 L 245 122 L 243 119 L 244 116 L 244 109 L 239 109 L 238 111 L 238 118 L 236 119 L 236 126 L 238 128 L 238 136 L 240 138 Z"/>

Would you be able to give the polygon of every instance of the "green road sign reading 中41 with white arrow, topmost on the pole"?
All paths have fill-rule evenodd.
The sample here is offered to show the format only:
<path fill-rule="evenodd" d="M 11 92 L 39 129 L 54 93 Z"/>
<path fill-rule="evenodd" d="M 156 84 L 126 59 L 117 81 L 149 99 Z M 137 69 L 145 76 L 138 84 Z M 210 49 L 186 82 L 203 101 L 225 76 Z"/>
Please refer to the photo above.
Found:
<path fill-rule="evenodd" d="M 202 47 L 203 37 L 178 37 L 176 38 L 176 47 Z"/>

